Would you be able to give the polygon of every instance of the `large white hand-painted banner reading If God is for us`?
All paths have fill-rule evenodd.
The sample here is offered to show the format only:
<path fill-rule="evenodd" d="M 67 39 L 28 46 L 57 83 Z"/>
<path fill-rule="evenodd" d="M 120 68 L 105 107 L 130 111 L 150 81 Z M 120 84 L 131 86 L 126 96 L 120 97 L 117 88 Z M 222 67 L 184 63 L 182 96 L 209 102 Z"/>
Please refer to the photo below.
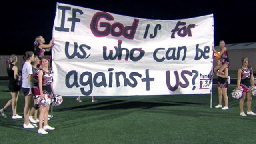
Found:
<path fill-rule="evenodd" d="M 57 3 L 54 91 L 62 96 L 209 94 L 213 14 L 150 20 Z"/>

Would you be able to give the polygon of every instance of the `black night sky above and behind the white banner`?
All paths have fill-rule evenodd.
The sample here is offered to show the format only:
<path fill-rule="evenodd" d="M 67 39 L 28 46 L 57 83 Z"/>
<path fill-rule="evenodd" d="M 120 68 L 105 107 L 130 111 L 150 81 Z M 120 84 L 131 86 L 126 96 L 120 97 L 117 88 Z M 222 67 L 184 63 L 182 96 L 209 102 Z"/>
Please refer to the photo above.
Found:
<path fill-rule="evenodd" d="M 34 38 L 52 38 L 56 0 L 8 1 L 1 6 L 1 55 L 22 55 L 34 50 Z M 192 0 L 59 0 L 95 10 L 147 19 L 175 20 L 214 14 L 214 42 L 227 44 L 256 42 L 255 4 L 246 0 L 233 2 Z"/>

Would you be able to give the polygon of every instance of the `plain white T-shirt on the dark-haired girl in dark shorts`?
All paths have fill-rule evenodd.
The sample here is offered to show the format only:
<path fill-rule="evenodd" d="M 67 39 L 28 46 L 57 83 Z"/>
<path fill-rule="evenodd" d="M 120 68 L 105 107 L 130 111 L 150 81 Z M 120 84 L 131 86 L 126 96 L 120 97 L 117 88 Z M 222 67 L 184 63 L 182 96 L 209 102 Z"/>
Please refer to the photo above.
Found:
<path fill-rule="evenodd" d="M 32 65 L 29 62 L 24 62 L 22 66 L 22 88 L 33 88 L 33 82 L 30 82 L 28 75 L 33 76 Z"/>

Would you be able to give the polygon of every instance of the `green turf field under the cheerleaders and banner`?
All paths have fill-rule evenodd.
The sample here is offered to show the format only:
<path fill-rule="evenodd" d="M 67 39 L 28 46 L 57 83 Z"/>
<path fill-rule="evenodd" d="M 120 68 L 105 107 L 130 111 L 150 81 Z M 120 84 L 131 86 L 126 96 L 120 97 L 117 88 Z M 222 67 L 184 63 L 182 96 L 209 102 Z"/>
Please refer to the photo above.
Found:
<path fill-rule="evenodd" d="M 8 82 L 0 82 L 0 107 L 11 98 Z M 24 119 L 0 117 L 0 144 L 255 144 L 256 116 L 239 115 L 238 100 L 228 88 L 229 110 L 216 109 L 216 85 L 210 94 L 184 96 L 64 97 L 53 107 L 47 135 L 24 129 Z M 252 109 L 256 112 L 256 97 Z M 18 100 L 22 115 L 24 95 Z M 244 111 L 246 112 L 246 102 Z"/>

